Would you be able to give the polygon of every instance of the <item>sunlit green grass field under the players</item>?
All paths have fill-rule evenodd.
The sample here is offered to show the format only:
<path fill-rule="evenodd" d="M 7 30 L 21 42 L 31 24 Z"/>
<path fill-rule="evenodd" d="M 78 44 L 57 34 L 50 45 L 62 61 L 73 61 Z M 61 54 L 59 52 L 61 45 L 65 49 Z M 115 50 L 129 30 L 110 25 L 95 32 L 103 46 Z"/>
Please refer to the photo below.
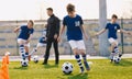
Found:
<path fill-rule="evenodd" d="M 74 71 L 70 75 L 62 72 L 62 65 L 69 61 L 74 65 Z M 9 65 L 10 79 L 132 79 L 132 59 L 122 59 L 120 64 L 110 64 L 108 59 L 90 59 L 91 70 L 79 75 L 76 60 L 61 60 L 58 66 L 54 60 L 48 65 L 30 63 L 29 67 L 22 68 L 19 61 L 11 61 Z"/>

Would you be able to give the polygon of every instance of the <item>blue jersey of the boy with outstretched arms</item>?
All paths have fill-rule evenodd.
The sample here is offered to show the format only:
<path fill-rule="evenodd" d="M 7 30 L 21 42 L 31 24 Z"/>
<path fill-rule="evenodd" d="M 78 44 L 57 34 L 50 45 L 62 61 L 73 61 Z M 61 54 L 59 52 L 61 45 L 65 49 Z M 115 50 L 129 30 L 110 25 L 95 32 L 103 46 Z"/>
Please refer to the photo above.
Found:
<path fill-rule="evenodd" d="M 106 30 L 108 30 L 108 38 L 118 38 L 117 31 L 120 30 L 120 25 L 118 23 L 108 23 Z"/>

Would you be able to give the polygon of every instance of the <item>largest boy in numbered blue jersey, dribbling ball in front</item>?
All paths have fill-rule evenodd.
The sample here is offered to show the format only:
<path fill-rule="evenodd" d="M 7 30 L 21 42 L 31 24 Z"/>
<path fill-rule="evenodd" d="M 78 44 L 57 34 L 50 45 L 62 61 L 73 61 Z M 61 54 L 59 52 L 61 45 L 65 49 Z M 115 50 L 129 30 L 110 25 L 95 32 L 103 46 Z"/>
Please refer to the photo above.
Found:
<path fill-rule="evenodd" d="M 69 3 L 67 5 L 67 13 L 68 13 L 68 15 L 66 15 L 63 20 L 63 29 L 59 33 L 58 41 L 61 40 L 61 36 L 62 36 L 63 32 L 65 31 L 65 27 L 67 27 L 67 40 L 73 49 L 73 53 L 75 54 L 75 58 L 80 67 L 80 72 L 82 74 L 85 71 L 85 68 L 81 64 L 79 54 L 81 54 L 81 56 L 82 56 L 84 65 L 85 65 L 86 69 L 90 70 L 90 67 L 89 67 L 89 65 L 87 63 L 87 58 L 86 58 L 86 47 L 85 47 L 85 43 L 82 40 L 82 33 L 84 33 L 84 36 L 86 40 L 88 37 L 82 27 L 84 22 L 82 22 L 81 16 L 75 13 L 75 5 Z"/>

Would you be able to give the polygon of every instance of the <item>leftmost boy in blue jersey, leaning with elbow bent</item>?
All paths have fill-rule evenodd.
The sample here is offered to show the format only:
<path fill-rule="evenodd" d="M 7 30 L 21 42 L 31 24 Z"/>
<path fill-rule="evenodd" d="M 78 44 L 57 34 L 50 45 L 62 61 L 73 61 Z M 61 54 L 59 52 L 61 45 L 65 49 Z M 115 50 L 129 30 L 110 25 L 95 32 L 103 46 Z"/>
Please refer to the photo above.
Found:
<path fill-rule="evenodd" d="M 30 20 L 28 22 L 28 25 L 22 25 L 14 29 L 15 33 L 20 31 L 20 34 L 18 36 L 18 43 L 20 47 L 20 55 L 23 60 L 25 60 L 29 57 L 30 41 L 34 32 L 33 25 L 33 21 Z"/>

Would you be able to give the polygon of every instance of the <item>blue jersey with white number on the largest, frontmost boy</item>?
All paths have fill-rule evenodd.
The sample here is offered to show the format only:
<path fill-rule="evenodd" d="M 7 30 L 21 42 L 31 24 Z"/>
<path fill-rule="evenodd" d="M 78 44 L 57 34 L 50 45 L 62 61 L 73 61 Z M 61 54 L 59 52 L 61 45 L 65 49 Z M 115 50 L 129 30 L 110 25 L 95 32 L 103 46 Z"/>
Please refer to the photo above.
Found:
<path fill-rule="evenodd" d="M 63 20 L 63 25 L 67 26 L 67 40 L 79 41 L 82 40 L 82 33 L 80 26 L 84 24 L 80 15 L 76 14 L 75 18 L 66 15 Z"/>

